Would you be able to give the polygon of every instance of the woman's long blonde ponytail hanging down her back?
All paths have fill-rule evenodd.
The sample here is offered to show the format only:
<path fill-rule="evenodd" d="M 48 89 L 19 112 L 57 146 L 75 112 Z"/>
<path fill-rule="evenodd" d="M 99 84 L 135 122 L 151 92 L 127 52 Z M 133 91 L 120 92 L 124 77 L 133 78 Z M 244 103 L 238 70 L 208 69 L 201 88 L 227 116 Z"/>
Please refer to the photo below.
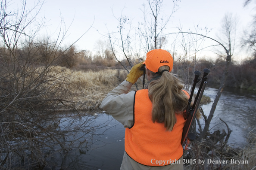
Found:
<path fill-rule="evenodd" d="M 158 71 L 169 69 L 169 66 L 162 66 Z M 152 121 L 164 122 L 166 131 L 172 131 L 176 123 L 175 114 L 183 114 L 188 98 L 184 91 L 181 91 L 183 85 L 180 79 L 174 74 L 164 71 L 159 79 L 154 79 L 159 74 L 152 71 L 150 73 L 153 80 L 148 85 L 148 95 L 153 104 Z"/>

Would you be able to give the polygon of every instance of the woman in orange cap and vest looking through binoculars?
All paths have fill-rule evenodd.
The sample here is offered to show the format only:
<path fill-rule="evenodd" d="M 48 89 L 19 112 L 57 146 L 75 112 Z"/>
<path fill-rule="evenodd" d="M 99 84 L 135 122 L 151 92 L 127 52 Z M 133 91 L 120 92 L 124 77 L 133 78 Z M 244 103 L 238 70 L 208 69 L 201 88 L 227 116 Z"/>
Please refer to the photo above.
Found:
<path fill-rule="evenodd" d="M 148 89 L 128 93 L 143 74 L 143 64 Z M 146 61 L 132 67 L 126 80 L 100 105 L 126 128 L 121 170 L 183 170 L 181 135 L 189 95 L 170 73 L 172 65 L 169 52 L 148 52 Z"/>

